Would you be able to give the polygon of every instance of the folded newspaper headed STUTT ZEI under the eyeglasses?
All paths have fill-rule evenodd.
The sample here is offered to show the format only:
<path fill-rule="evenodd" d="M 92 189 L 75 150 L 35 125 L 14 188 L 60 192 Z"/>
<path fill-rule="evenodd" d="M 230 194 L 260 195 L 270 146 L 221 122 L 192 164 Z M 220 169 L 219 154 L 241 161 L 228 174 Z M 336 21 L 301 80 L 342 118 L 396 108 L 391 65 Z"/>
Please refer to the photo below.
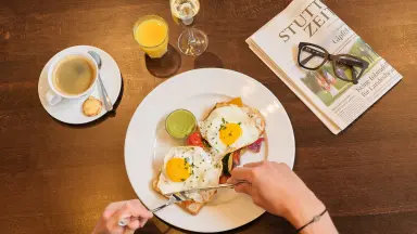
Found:
<path fill-rule="evenodd" d="M 357 84 L 336 78 L 331 63 L 299 66 L 299 43 L 368 62 Z M 338 134 L 397 83 L 402 76 L 320 0 L 294 0 L 247 43 L 329 130 Z"/>

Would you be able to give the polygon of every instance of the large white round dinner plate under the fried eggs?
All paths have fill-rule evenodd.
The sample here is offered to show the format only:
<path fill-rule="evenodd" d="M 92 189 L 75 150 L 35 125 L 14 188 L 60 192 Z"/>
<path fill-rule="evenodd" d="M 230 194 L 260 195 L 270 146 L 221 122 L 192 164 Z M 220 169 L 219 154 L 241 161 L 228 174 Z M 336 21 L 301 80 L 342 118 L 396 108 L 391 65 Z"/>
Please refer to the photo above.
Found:
<path fill-rule="evenodd" d="M 138 106 L 125 140 L 125 164 L 130 183 L 150 209 L 166 202 L 152 188 L 169 147 L 184 144 L 164 129 L 165 117 L 177 108 L 203 120 L 216 102 L 241 96 L 266 118 L 266 144 L 258 154 L 247 152 L 241 164 L 268 159 L 294 164 L 295 143 L 290 119 L 277 98 L 258 81 L 233 70 L 205 68 L 179 74 L 156 87 Z M 167 223 L 193 232 L 222 232 L 244 225 L 264 213 L 251 197 L 218 190 L 214 200 L 192 216 L 176 205 L 155 214 Z"/>

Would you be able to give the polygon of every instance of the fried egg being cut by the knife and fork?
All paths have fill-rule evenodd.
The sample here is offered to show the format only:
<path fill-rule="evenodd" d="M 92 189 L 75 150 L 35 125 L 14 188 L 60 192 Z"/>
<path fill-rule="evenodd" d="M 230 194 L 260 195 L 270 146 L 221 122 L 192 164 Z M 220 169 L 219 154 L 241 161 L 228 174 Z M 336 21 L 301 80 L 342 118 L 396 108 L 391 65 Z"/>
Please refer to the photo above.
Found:
<path fill-rule="evenodd" d="M 199 146 L 173 147 L 164 157 L 157 187 L 162 194 L 218 185 L 222 164 Z M 214 191 L 189 193 L 198 203 L 208 202 Z"/>

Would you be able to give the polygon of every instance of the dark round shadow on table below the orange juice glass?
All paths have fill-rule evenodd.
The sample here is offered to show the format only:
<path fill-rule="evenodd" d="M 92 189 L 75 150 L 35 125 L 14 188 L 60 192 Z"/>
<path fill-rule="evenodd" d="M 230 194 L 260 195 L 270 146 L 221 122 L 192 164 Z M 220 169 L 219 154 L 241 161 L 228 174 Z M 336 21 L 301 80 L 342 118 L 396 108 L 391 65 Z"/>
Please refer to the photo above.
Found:
<path fill-rule="evenodd" d="M 144 55 L 148 72 L 159 78 L 168 78 L 176 74 L 181 67 L 181 54 L 170 44 L 168 51 L 161 58 L 151 58 Z"/>

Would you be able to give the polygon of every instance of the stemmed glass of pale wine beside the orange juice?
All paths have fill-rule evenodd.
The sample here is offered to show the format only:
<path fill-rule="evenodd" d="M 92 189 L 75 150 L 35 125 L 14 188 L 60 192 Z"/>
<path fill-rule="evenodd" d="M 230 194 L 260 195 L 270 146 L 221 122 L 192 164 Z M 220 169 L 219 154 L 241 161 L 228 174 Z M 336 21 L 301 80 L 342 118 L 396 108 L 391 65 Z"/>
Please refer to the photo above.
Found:
<path fill-rule="evenodd" d="M 170 12 L 177 24 L 187 29 L 178 38 L 178 49 L 190 56 L 202 54 L 208 46 L 207 35 L 193 27 L 194 16 L 199 13 L 199 0 L 170 0 Z"/>

